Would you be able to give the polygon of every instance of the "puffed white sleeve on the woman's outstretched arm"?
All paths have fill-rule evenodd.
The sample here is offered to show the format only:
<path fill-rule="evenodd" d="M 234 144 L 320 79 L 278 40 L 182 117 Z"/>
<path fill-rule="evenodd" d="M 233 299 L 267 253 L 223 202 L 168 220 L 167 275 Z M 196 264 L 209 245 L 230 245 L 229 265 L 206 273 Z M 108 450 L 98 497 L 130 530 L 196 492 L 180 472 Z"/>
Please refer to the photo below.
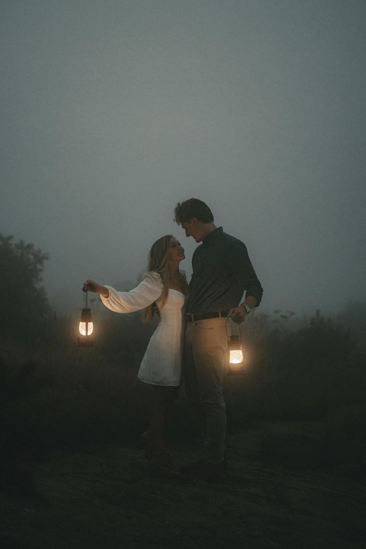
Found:
<path fill-rule="evenodd" d="M 108 288 L 109 296 L 103 298 L 101 295 L 100 299 L 108 309 L 114 312 L 134 312 L 145 309 L 161 296 L 164 289 L 159 273 L 151 271 L 145 273 L 143 281 L 129 292 L 117 292 L 111 286 L 105 286 L 105 288 Z"/>

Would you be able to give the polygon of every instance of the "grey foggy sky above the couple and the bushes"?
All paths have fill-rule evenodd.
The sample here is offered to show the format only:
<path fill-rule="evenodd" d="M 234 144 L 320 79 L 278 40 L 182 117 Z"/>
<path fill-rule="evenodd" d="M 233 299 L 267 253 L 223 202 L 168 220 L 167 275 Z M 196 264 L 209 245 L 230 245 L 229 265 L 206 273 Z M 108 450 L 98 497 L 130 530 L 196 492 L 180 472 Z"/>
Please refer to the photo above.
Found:
<path fill-rule="evenodd" d="M 3 0 L 0 21 L 0 232 L 50 254 L 57 311 L 86 278 L 134 284 L 166 233 L 190 277 L 190 197 L 245 242 L 263 311 L 366 300 L 364 1 Z"/>

